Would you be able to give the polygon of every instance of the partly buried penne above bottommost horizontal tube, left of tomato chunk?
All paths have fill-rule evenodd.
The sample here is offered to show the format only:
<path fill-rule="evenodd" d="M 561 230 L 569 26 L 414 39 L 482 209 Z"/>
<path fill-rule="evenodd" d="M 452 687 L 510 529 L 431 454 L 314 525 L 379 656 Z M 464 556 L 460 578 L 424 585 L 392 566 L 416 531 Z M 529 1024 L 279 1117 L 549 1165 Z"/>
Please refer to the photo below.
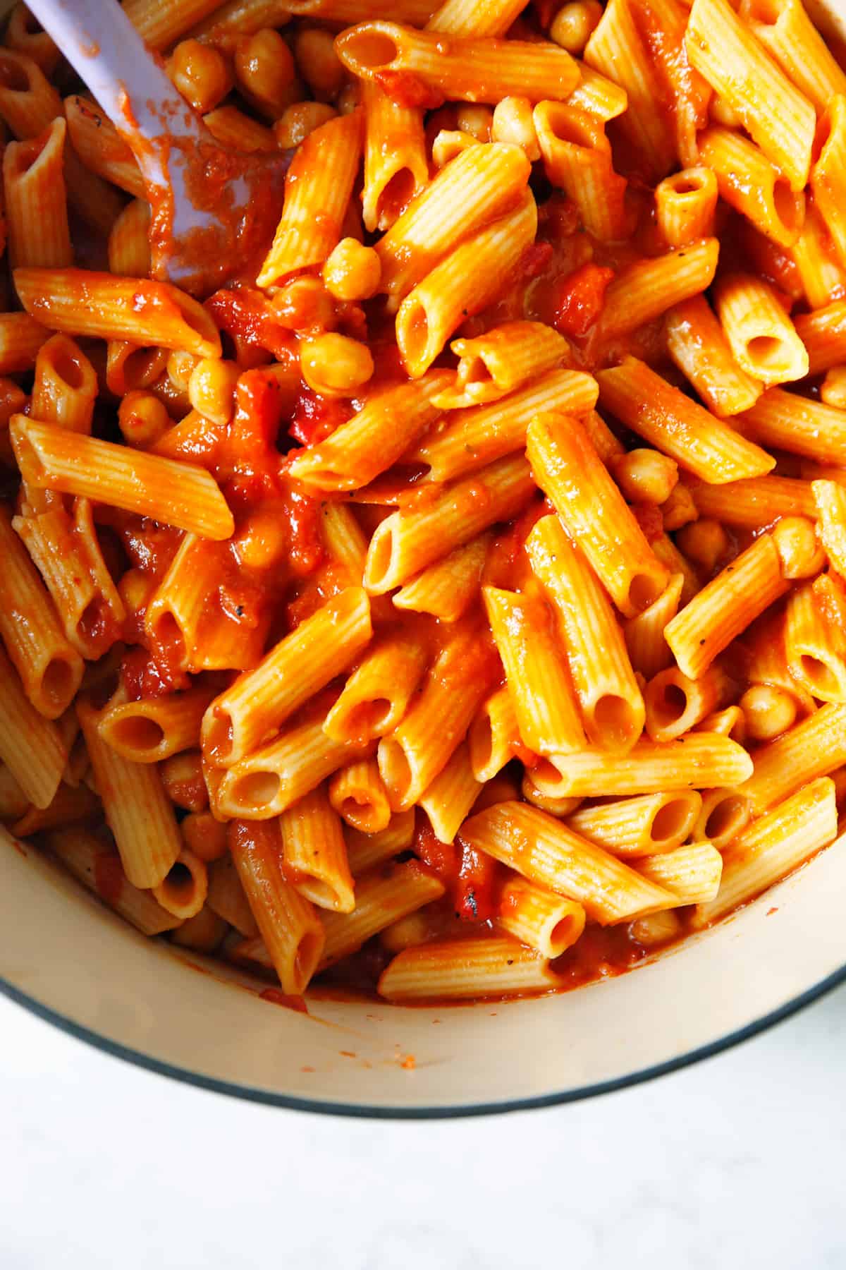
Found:
<path fill-rule="evenodd" d="M 355 909 L 351 913 L 321 913 L 326 945 L 320 968 L 349 956 L 386 926 L 433 899 L 440 899 L 443 894 L 443 881 L 417 860 L 381 865 L 361 874 L 355 883 Z"/>

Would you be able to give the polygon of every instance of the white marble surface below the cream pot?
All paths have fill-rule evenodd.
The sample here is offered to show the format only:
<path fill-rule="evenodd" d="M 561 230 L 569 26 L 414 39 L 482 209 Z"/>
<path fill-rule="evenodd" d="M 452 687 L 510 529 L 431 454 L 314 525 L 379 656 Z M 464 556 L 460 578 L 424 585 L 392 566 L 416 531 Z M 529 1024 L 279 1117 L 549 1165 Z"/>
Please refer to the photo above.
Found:
<path fill-rule="evenodd" d="M 189 1088 L 0 998 L 3 1270 L 846 1265 L 846 988 L 604 1099 L 378 1123 Z"/>

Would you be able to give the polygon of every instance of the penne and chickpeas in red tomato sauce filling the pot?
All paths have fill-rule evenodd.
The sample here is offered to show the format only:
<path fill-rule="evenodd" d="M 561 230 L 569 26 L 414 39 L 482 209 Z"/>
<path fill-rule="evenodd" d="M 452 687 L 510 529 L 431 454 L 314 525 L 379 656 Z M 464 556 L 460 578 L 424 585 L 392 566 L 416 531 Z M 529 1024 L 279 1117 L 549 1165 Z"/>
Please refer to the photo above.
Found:
<path fill-rule="evenodd" d="M 36 241 L 0 93 L 0 822 L 306 1012 L 620 974 L 846 789 L 838 46 L 365 8 L 164 50 L 231 136 L 197 206 L 254 190 L 202 305 L 94 107 Z"/>

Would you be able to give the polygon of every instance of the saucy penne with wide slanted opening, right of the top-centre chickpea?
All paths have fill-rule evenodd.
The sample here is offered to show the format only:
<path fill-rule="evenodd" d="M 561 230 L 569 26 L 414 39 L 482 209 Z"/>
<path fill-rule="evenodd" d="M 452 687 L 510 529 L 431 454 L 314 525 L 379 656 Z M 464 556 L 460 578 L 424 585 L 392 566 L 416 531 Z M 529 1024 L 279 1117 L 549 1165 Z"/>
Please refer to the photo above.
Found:
<path fill-rule="evenodd" d="M 572 198 L 587 232 L 624 237 L 627 183 L 614 171 L 602 121 L 563 102 L 539 102 L 533 118 L 547 177 Z"/>

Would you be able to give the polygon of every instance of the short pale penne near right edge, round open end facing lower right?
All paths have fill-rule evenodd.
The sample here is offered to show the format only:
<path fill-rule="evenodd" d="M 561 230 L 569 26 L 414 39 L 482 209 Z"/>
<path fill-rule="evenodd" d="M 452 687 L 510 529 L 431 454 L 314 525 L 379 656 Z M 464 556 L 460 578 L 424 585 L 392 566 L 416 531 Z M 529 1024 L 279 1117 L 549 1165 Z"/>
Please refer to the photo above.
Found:
<path fill-rule="evenodd" d="M 804 378 L 808 353 L 772 288 L 748 273 L 724 274 L 714 305 L 734 361 L 765 387 Z"/>

